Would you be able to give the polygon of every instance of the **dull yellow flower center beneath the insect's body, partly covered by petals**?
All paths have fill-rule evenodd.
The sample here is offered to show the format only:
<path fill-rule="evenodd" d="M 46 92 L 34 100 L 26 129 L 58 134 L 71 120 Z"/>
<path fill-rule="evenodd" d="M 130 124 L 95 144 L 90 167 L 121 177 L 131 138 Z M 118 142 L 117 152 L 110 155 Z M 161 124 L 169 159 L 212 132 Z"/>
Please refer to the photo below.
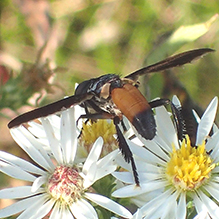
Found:
<path fill-rule="evenodd" d="M 79 142 L 89 152 L 93 143 L 101 136 L 104 141 L 102 156 L 105 156 L 118 147 L 118 142 L 114 137 L 115 134 L 116 129 L 112 121 L 98 119 L 92 122 L 89 120 L 82 125 Z"/>

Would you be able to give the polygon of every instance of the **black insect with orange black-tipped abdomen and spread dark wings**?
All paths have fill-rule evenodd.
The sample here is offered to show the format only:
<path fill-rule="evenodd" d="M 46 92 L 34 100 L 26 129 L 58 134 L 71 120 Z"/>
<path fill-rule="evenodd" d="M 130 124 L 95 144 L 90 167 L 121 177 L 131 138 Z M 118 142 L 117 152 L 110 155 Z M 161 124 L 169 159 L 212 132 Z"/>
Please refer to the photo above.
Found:
<path fill-rule="evenodd" d="M 182 135 L 183 122 L 179 110 L 169 99 L 158 99 L 148 102 L 138 90 L 138 77 L 151 72 L 158 72 L 190 63 L 202 55 L 213 52 L 209 48 L 190 50 L 171 56 L 163 61 L 141 68 L 124 78 L 116 74 L 106 74 L 98 78 L 80 83 L 75 95 L 24 113 L 9 122 L 13 128 L 28 121 L 54 114 L 71 106 L 80 104 L 85 108 L 87 119 L 113 119 L 119 142 L 119 148 L 126 162 L 130 163 L 136 185 L 139 177 L 133 154 L 119 128 L 123 115 L 128 118 L 137 132 L 145 139 L 153 139 L 156 135 L 156 124 L 152 108 L 170 104 L 173 118 L 179 135 Z"/>

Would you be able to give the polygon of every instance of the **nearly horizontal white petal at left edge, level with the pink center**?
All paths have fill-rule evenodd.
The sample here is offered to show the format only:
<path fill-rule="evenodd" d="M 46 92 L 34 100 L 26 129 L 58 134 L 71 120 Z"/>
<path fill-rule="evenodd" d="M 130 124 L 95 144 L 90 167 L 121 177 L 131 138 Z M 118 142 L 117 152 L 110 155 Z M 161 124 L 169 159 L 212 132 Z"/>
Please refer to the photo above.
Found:
<path fill-rule="evenodd" d="M 28 196 L 35 195 L 42 192 L 43 189 L 33 193 L 31 191 L 31 186 L 20 186 L 14 188 L 7 188 L 0 190 L 0 199 L 19 199 L 26 198 Z"/>

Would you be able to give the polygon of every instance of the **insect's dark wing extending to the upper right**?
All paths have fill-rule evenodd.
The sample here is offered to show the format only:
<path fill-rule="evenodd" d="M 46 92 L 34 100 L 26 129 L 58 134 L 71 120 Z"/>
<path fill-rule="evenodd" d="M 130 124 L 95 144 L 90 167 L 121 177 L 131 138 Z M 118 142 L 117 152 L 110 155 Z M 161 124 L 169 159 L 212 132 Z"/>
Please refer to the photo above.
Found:
<path fill-rule="evenodd" d="M 144 75 L 151 72 L 158 72 L 165 69 L 173 68 L 176 66 L 181 66 L 186 63 L 190 63 L 191 61 L 200 58 L 206 53 L 213 52 L 215 50 L 209 49 L 209 48 L 203 48 L 203 49 L 195 49 L 190 50 L 187 52 L 183 52 L 180 54 L 177 54 L 175 56 L 171 56 L 167 59 L 164 59 L 163 61 L 157 62 L 153 65 L 149 65 L 147 67 L 144 67 L 142 69 L 139 69 L 129 75 L 127 75 L 125 78 L 132 79 L 134 81 L 138 80 L 138 76 Z"/>

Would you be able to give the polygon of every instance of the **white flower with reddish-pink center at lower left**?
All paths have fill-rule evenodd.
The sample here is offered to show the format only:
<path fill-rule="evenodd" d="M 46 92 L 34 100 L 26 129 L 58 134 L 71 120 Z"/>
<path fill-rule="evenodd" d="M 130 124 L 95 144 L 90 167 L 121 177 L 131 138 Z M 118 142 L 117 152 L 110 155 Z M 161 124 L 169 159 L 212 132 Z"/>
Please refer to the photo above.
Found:
<path fill-rule="evenodd" d="M 51 155 L 24 126 L 11 129 L 18 145 L 36 165 L 6 152 L 0 152 L 0 171 L 31 185 L 0 190 L 1 199 L 19 200 L 0 210 L 0 218 L 21 213 L 18 218 L 98 218 L 90 202 L 116 215 L 131 218 L 131 213 L 109 198 L 96 194 L 91 187 L 102 177 L 112 173 L 112 162 L 118 150 L 99 159 L 103 140 L 98 138 L 84 163 L 76 162 L 77 134 L 74 108 L 61 113 L 60 127 L 53 127 L 51 118 L 42 118 L 42 127 L 50 145 Z M 33 123 L 33 122 L 32 122 Z M 37 130 L 41 130 L 37 126 Z M 57 138 L 57 129 L 59 137 Z M 39 136 L 39 134 L 37 134 Z"/>

